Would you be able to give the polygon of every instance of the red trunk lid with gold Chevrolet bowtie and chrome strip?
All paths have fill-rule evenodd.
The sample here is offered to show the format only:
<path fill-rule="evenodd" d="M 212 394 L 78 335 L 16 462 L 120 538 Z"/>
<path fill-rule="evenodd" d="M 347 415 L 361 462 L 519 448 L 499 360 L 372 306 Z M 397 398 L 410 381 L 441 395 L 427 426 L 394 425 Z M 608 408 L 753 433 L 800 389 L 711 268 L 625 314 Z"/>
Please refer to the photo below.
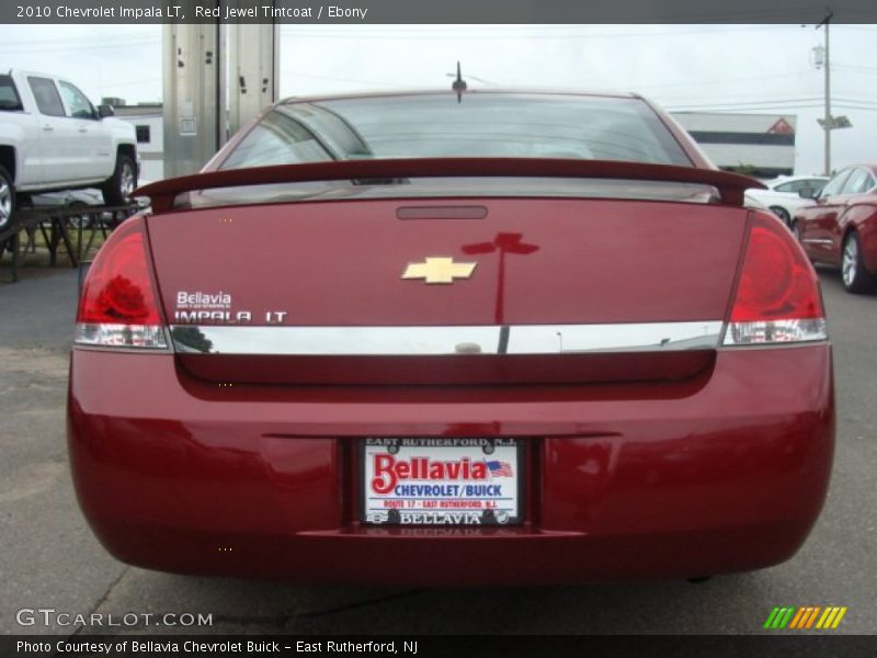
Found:
<path fill-rule="evenodd" d="M 190 209 L 148 225 L 190 374 L 430 385 L 707 370 L 745 218 L 668 201 L 381 198 Z"/>

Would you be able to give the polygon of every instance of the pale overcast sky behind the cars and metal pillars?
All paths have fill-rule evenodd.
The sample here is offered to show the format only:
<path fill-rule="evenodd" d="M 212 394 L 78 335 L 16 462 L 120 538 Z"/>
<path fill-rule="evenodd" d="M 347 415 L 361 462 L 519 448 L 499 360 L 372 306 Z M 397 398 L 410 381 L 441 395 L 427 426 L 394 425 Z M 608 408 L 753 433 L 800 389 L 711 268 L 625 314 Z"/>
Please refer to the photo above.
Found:
<path fill-rule="evenodd" d="M 0 25 L 0 68 L 71 79 L 93 101 L 161 100 L 160 25 Z M 820 173 L 824 70 L 812 25 L 293 25 L 281 95 L 472 87 L 635 91 L 671 111 L 795 114 L 796 173 Z M 831 26 L 832 169 L 877 159 L 877 25 Z"/>

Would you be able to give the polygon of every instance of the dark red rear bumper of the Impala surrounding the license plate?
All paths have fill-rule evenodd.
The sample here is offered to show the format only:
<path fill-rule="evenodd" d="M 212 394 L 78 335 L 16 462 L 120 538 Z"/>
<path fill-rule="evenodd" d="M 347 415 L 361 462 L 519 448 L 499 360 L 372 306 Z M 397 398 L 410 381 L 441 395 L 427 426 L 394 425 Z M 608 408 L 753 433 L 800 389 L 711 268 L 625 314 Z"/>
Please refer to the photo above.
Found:
<path fill-rule="evenodd" d="M 68 440 L 104 546 L 149 568 L 417 585 L 685 577 L 789 558 L 831 470 L 831 350 L 718 353 L 665 385 L 217 386 L 75 349 Z M 525 438 L 526 523 L 356 522 L 357 438 Z"/>

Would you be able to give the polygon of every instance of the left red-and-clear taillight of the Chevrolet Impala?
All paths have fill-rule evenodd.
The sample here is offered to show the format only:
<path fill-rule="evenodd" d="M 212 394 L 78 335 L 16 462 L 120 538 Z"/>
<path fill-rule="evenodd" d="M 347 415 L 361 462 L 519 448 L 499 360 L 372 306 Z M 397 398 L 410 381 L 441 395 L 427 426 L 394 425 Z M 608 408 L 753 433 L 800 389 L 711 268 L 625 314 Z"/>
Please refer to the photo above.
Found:
<path fill-rule="evenodd" d="M 143 217 L 113 231 L 94 259 L 79 298 L 75 342 L 168 349 Z"/>

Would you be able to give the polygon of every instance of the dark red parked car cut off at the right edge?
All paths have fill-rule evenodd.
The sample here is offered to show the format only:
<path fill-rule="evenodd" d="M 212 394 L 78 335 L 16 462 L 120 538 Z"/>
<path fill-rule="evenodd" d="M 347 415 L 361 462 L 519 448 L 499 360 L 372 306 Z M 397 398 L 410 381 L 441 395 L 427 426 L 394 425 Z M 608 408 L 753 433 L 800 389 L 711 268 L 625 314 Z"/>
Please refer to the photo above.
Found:
<path fill-rule="evenodd" d="M 815 203 L 796 213 L 791 229 L 811 260 L 841 269 L 847 292 L 873 291 L 877 285 L 877 166 L 841 170 Z"/>

